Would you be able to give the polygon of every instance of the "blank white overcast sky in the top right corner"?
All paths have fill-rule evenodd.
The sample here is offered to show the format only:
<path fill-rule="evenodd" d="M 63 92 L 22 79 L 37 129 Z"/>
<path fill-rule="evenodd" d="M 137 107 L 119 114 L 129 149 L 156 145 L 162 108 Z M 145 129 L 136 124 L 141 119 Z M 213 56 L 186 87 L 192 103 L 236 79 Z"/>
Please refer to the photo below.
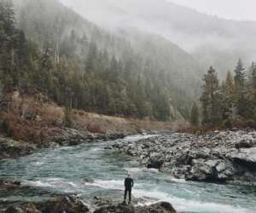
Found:
<path fill-rule="evenodd" d="M 167 0 L 232 20 L 256 20 L 256 0 Z"/>

